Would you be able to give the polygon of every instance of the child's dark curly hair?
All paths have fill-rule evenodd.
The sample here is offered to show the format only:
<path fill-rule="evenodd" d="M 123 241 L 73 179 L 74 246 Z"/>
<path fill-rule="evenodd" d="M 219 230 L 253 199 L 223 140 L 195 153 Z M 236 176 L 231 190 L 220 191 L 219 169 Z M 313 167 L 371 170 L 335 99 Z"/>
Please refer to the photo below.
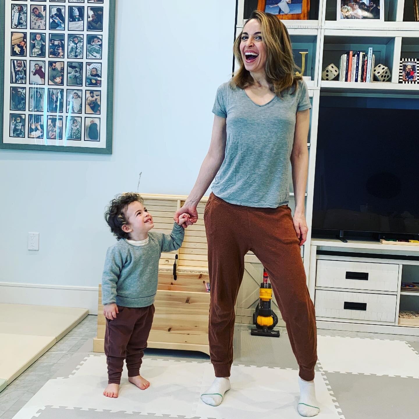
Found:
<path fill-rule="evenodd" d="M 128 233 L 122 230 L 122 226 L 124 224 L 128 224 L 125 214 L 127 206 L 135 201 L 138 201 L 140 203 L 144 202 L 139 193 L 123 193 L 116 195 L 116 197 L 113 200 L 111 200 L 111 203 L 106 208 L 105 220 L 108 223 L 109 227 L 111 227 L 111 232 L 114 233 L 117 240 L 127 239 L 129 237 Z"/>

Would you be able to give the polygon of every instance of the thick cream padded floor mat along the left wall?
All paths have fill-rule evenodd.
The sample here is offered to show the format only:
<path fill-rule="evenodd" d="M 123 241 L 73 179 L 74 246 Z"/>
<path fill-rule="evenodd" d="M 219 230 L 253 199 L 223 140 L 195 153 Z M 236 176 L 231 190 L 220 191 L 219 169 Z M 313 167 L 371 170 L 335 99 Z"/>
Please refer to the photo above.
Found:
<path fill-rule="evenodd" d="M 0 304 L 0 391 L 88 315 L 88 310 Z"/>

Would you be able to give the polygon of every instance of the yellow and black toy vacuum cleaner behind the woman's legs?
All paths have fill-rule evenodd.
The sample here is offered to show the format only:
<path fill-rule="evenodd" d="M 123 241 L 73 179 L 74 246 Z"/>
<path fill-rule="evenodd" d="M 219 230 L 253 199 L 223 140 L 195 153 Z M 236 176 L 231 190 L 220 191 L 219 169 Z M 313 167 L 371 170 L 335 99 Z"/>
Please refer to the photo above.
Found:
<path fill-rule="evenodd" d="M 272 286 L 269 283 L 268 274 L 263 270 L 263 282 L 259 290 L 259 304 L 253 313 L 253 324 L 256 329 L 252 329 L 253 336 L 272 336 L 279 338 L 279 330 L 273 330 L 278 324 L 278 316 L 272 311 Z"/>

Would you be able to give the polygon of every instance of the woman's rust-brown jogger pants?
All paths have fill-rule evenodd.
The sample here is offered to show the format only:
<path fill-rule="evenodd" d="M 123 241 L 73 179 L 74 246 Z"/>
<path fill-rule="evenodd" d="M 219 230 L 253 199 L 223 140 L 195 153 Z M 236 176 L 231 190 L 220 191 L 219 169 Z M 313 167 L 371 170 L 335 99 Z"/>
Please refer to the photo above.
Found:
<path fill-rule="evenodd" d="M 251 250 L 269 275 L 300 366 L 300 377 L 313 380 L 317 362 L 316 318 L 290 208 L 238 206 L 211 193 L 204 221 L 211 283 L 209 348 L 215 376 L 230 376 L 234 306 L 243 279 L 244 255 Z"/>

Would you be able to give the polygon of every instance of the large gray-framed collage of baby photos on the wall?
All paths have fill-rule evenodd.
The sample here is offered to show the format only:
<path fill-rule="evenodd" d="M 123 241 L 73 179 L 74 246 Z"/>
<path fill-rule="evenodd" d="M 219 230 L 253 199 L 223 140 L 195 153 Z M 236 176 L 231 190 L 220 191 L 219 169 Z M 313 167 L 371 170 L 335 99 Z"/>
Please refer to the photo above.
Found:
<path fill-rule="evenodd" d="M 0 148 L 112 153 L 115 3 L 0 1 Z"/>

